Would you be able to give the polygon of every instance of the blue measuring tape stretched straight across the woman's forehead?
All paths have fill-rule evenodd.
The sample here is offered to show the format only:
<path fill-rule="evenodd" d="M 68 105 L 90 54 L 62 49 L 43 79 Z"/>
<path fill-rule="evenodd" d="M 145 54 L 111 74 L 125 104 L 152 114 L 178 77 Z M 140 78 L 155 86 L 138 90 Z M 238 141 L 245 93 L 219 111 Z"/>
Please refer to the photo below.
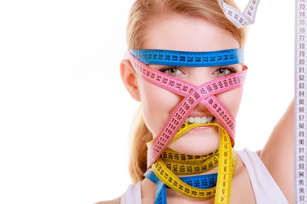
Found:
<path fill-rule="evenodd" d="M 244 63 L 244 49 L 183 52 L 165 49 L 129 49 L 144 64 L 208 67 Z"/>

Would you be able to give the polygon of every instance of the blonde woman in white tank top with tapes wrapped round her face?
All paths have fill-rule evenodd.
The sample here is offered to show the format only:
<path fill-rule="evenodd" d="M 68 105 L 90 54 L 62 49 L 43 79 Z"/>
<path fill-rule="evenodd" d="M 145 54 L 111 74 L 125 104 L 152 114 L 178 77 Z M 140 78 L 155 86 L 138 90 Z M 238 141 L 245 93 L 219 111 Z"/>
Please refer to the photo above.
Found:
<path fill-rule="evenodd" d="M 231 0 L 225 3 L 238 9 Z M 145 173 L 150 172 L 147 171 L 147 167 L 152 164 L 150 161 L 157 160 L 152 154 L 159 151 L 158 147 L 156 150 L 153 147 L 155 143 L 151 144 L 149 141 L 153 142 L 156 138 L 157 142 L 161 136 L 161 130 L 164 129 L 179 105 L 183 103 L 188 93 L 180 95 L 179 92 L 172 92 L 159 87 L 158 84 L 151 83 L 146 80 L 145 75 L 142 77 L 142 71 L 138 72 L 139 67 L 135 63 L 139 63 L 142 59 L 136 59 L 138 50 L 134 49 L 176 50 L 176 52 L 236 50 L 239 52 L 240 48 L 244 48 L 245 45 L 246 30 L 245 28 L 238 29 L 230 22 L 215 0 L 137 0 L 130 10 L 127 41 L 129 53 L 127 59 L 121 61 L 120 74 L 131 97 L 141 102 L 129 164 L 134 185 L 130 185 L 121 197 L 98 203 L 155 203 L 155 200 L 158 203 L 156 194 L 162 192 L 160 190 L 163 183 L 157 180 L 160 187 L 156 189 L 158 185 L 153 180 L 149 180 L 150 176 L 148 174 L 144 176 Z M 240 54 L 237 54 L 239 59 Z M 226 79 L 227 76 L 232 76 L 231 74 L 242 73 L 244 75 L 247 71 L 247 67 L 240 60 L 232 64 L 228 63 L 227 66 L 144 64 L 150 67 L 147 70 L 150 69 L 151 73 L 156 70 L 157 73 L 168 74 L 172 79 L 192 84 L 195 87 L 203 86 L 212 80 Z M 140 66 L 147 67 L 146 65 Z M 244 79 L 242 75 L 240 79 Z M 236 118 L 242 94 L 243 86 L 239 86 L 216 93 L 214 96 L 224 105 L 225 110 Z M 189 114 L 184 116 L 186 122 L 184 124 L 204 126 L 203 124 L 207 122 L 215 121 L 223 126 L 223 122 L 218 118 L 214 119 L 214 116 L 212 109 L 206 103 L 197 103 L 192 110 L 189 110 Z M 257 152 L 252 152 L 247 148 L 239 151 L 232 150 L 236 163 L 233 175 L 230 175 L 232 177 L 231 191 L 229 189 L 230 203 L 294 203 L 293 120 L 294 101 L 292 100 L 287 111 L 276 124 L 264 149 Z M 222 129 L 219 126 L 213 125 L 191 129 L 167 147 L 186 155 L 207 155 L 221 148 L 220 130 Z M 230 138 L 234 137 L 234 131 L 225 130 Z M 233 144 L 234 141 L 232 141 L 232 146 Z M 158 156 L 159 154 L 161 151 L 157 153 Z M 155 164 L 157 163 L 154 163 L 152 168 L 155 168 Z M 220 165 L 219 163 L 218 167 Z M 218 167 L 215 166 L 200 174 L 189 174 L 189 176 L 213 175 L 218 172 Z M 159 175 L 159 173 L 156 174 Z M 216 192 L 218 181 L 217 179 L 215 184 Z M 216 203 L 216 195 L 194 199 L 171 188 L 166 188 L 165 192 L 167 203 Z M 221 192 L 224 193 L 224 191 Z"/>

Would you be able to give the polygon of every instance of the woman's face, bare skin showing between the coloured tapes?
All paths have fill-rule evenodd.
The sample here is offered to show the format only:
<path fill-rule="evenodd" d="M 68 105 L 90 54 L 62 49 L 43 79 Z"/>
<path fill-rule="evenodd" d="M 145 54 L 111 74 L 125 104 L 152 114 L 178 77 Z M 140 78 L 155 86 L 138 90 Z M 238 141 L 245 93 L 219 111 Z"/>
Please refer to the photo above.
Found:
<path fill-rule="evenodd" d="M 207 19 L 190 18 L 179 15 L 168 15 L 148 25 L 149 35 L 146 37 L 144 49 L 169 49 L 190 52 L 208 52 L 215 50 L 239 48 L 237 40 L 224 30 L 217 28 Z M 242 71 L 242 64 L 218 67 L 169 67 L 164 65 L 149 65 L 173 77 L 200 86 L 223 75 Z M 140 100 L 143 107 L 144 121 L 157 137 L 168 117 L 181 103 L 183 96 L 152 85 L 136 76 Z M 243 87 L 226 91 L 215 96 L 226 106 L 236 118 Z M 202 104 L 198 104 L 188 118 L 213 116 Z M 184 136 L 168 147 L 189 155 L 204 155 L 216 150 L 220 145 L 219 129 L 210 126 L 209 129 L 188 131 Z"/>

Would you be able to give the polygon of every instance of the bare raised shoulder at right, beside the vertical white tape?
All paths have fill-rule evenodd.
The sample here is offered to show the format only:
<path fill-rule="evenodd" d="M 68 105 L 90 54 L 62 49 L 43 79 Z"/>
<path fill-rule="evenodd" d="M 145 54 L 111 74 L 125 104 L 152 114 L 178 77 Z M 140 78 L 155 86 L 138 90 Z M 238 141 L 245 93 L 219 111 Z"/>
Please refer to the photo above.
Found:
<path fill-rule="evenodd" d="M 274 181 L 288 199 L 294 203 L 294 99 L 274 126 L 259 157 Z"/>

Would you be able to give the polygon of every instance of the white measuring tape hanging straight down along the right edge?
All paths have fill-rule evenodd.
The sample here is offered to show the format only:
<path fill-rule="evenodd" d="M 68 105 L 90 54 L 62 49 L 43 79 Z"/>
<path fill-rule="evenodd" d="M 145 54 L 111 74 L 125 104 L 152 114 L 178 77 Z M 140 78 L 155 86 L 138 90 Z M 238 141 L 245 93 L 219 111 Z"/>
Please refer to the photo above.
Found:
<path fill-rule="evenodd" d="M 306 97 L 307 97 L 307 2 L 295 2 L 295 143 L 294 143 L 294 191 L 295 202 L 307 203 L 306 184 Z"/>

